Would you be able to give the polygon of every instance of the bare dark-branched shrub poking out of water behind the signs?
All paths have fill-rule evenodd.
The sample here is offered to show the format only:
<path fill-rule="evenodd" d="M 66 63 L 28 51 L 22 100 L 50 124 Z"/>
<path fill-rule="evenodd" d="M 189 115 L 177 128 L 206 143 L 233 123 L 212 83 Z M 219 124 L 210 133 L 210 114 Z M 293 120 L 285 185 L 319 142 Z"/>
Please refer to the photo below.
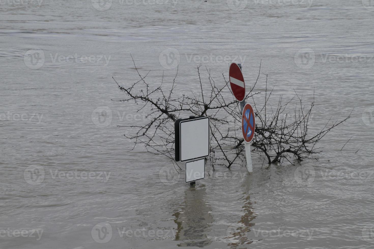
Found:
<path fill-rule="evenodd" d="M 135 65 L 135 62 L 134 62 Z M 232 98 L 223 97 L 224 89 L 229 87 L 229 81 L 224 74 L 220 83 L 215 83 L 210 71 L 206 68 L 206 83 L 202 83 L 200 66 L 197 67 L 199 76 L 199 93 L 178 95 L 174 92 L 174 77 L 170 89 L 165 90 L 162 84 L 151 88 L 145 81 L 148 74 L 142 76 L 137 70 L 140 80 L 125 84 L 117 83 L 119 89 L 126 95 L 122 102 L 135 102 L 140 105 L 137 111 L 148 109 L 149 122 L 139 126 L 120 126 L 137 128 L 135 134 L 124 136 L 136 144 L 144 144 L 148 152 L 165 155 L 174 160 L 174 122 L 189 115 L 209 116 L 211 132 L 211 148 L 209 161 L 215 164 L 223 163 L 228 168 L 233 164 L 242 164 L 245 161 L 244 144 L 241 131 L 241 112 L 239 102 Z M 149 73 L 149 72 L 148 72 Z M 328 126 L 329 121 L 319 132 L 309 134 L 313 102 L 306 107 L 303 98 L 295 91 L 295 97 L 285 102 L 282 96 L 278 98 L 275 108 L 270 105 L 269 99 L 274 94 L 267 89 L 267 75 L 264 82 L 264 92 L 254 92 L 261 74 L 261 64 L 255 81 L 245 100 L 251 103 L 255 112 L 255 135 L 252 141 L 252 152 L 257 153 L 267 164 L 297 159 L 318 159 L 316 154 L 322 152 L 317 143 L 334 127 L 346 121 L 349 117 L 336 121 Z M 262 96 L 261 96 L 262 95 Z M 257 105 L 256 100 L 263 103 Z M 292 108 L 291 108 L 292 105 Z M 295 105 L 293 107 L 293 105 Z M 135 146 L 134 146 L 135 147 Z"/>

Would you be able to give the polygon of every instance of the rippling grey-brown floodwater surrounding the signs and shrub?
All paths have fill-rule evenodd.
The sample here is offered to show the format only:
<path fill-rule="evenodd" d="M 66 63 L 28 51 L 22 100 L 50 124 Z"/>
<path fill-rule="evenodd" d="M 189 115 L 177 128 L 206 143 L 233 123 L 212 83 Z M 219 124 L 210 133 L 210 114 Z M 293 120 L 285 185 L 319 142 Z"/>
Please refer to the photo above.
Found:
<path fill-rule="evenodd" d="M 368 0 L 0 0 L 1 248 L 373 248 L 374 6 Z M 260 62 L 313 130 L 352 117 L 301 165 L 184 171 L 122 136 L 147 122 L 111 77 L 198 92 Z M 264 91 L 265 78 L 255 90 Z M 207 80 L 206 70 L 203 80 Z M 227 91 L 227 97 L 230 96 Z M 351 138 L 352 137 L 352 138 Z M 351 138 L 351 139 L 350 139 Z M 350 139 L 350 141 L 341 148 Z M 183 168 L 183 164 L 180 164 Z"/>

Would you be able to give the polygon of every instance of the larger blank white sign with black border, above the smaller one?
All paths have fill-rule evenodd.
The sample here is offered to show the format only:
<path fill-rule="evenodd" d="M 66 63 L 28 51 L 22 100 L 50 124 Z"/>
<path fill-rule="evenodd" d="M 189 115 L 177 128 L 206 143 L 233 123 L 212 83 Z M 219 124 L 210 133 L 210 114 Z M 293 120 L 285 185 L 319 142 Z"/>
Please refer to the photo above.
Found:
<path fill-rule="evenodd" d="M 209 118 L 180 122 L 181 162 L 209 156 Z"/>

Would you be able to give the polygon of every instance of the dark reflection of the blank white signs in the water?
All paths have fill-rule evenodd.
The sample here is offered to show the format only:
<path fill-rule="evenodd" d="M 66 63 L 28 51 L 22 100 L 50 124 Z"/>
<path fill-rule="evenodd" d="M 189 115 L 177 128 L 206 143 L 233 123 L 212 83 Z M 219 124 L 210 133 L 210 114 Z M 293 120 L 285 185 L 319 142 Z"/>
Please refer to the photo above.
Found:
<path fill-rule="evenodd" d="M 173 214 L 177 224 L 175 240 L 183 241 L 178 246 L 208 246 L 212 242 L 206 234 L 211 231 L 213 219 L 204 201 L 205 187 L 190 187 L 184 193 L 185 206 Z"/>

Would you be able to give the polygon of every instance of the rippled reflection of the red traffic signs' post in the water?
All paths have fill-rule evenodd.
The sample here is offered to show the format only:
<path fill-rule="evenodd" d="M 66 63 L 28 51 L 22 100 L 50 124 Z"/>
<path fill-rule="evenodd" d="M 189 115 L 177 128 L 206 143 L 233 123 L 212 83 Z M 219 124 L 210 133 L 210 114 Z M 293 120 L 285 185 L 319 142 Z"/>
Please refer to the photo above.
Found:
<path fill-rule="evenodd" d="M 243 182 L 243 189 L 249 189 L 249 181 Z M 252 211 L 252 203 L 249 199 L 249 190 L 243 193 L 243 197 L 240 200 L 243 200 L 244 204 L 242 206 L 244 214 L 242 215 L 238 224 L 227 230 L 229 239 L 234 240 L 235 242 L 229 243 L 228 246 L 232 248 L 237 248 L 239 245 L 251 244 L 253 240 L 249 240 L 249 232 L 251 231 L 250 227 L 253 227 L 255 223 L 252 222 L 256 218 L 256 215 Z"/>

